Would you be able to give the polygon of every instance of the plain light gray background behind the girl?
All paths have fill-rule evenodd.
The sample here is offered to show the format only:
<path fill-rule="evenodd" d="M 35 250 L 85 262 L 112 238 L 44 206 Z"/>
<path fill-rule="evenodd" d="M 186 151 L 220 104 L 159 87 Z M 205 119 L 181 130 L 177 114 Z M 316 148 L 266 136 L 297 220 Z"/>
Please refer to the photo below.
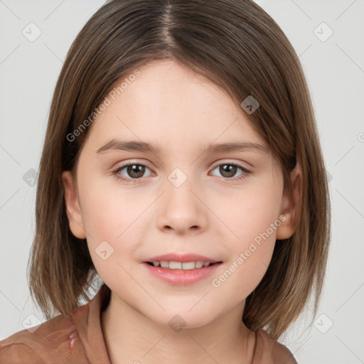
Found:
<path fill-rule="evenodd" d="M 33 178 L 63 60 L 102 4 L 0 0 L 0 340 L 36 322 L 35 316 L 45 321 L 26 283 L 35 230 Z M 333 230 L 319 314 L 313 318 L 308 304 L 280 341 L 299 363 L 364 363 L 364 1 L 257 4 L 282 27 L 299 55 L 331 176 Z M 28 26 L 31 22 L 36 26 Z M 37 28 L 41 35 L 34 41 L 22 33 L 36 36 Z"/>

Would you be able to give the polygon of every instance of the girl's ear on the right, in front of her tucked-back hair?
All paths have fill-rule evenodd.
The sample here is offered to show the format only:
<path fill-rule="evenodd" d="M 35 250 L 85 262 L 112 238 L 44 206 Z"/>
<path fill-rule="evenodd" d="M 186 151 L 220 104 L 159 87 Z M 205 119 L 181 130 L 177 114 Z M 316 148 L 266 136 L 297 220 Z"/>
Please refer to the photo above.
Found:
<path fill-rule="evenodd" d="M 281 220 L 282 224 L 277 228 L 276 239 L 288 239 L 296 230 L 297 215 L 299 213 L 299 202 L 301 200 L 301 186 L 302 186 L 302 171 L 298 162 L 291 171 L 291 184 L 292 193 L 291 196 L 286 196 L 282 199 L 281 215 L 284 215 L 285 220 Z"/>

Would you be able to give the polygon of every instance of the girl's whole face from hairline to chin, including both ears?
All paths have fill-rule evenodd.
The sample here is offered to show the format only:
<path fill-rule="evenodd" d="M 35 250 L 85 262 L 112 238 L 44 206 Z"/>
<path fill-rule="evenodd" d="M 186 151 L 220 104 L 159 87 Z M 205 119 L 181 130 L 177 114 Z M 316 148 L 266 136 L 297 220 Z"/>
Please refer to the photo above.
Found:
<path fill-rule="evenodd" d="M 87 131 L 77 185 L 63 173 L 70 229 L 87 238 L 112 299 L 156 323 L 241 317 L 276 239 L 293 233 L 282 173 L 242 109 L 210 81 L 171 60 L 139 71 Z M 159 150 L 119 148 L 130 141 Z M 259 147 L 208 149 L 232 143 Z M 216 263 L 168 280 L 146 262 L 169 253 Z"/>

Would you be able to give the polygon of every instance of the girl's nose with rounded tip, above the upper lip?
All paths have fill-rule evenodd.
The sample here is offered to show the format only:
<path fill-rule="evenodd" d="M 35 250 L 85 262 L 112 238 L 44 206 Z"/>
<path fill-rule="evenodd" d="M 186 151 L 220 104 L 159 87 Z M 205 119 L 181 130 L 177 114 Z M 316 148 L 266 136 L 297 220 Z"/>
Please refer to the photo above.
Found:
<path fill-rule="evenodd" d="M 160 230 L 186 235 L 197 234 L 207 228 L 208 208 L 191 180 L 192 178 L 188 178 L 179 187 L 167 181 L 166 192 L 159 199 L 157 225 Z"/>

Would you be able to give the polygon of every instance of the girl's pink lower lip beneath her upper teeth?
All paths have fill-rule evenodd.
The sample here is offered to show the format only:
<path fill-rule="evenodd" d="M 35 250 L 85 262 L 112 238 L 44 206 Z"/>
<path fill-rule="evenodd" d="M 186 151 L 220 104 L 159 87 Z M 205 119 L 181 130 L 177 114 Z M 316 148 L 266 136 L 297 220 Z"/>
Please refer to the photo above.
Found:
<path fill-rule="evenodd" d="M 174 286 L 186 286 L 187 284 L 193 284 L 205 279 L 213 274 L 213 272 L 220 267 L 221 262 L 209 265 L 208 267 L 195 268 L 195 269 L 168 269 L 161 267 L 154 267 L 148 263 L 143 263 L 149 272 L 164 282 L 173 284 Z"/>

